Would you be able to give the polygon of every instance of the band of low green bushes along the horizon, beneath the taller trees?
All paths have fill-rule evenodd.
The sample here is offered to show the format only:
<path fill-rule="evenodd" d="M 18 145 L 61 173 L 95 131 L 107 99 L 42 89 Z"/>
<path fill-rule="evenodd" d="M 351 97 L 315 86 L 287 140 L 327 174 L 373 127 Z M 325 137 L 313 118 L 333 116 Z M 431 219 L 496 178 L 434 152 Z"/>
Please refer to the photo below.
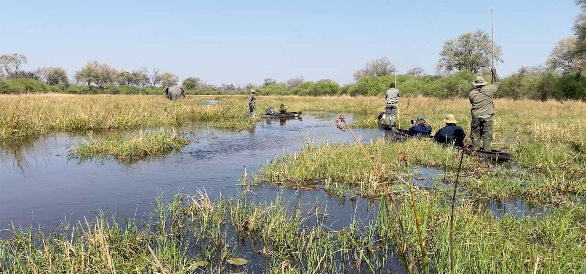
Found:
<path fill-rule="evenodd" d="M 397 75 L 397 88 L 401 96 L 430 96 L 438 98 L 466 98 L 472 90 L 472 82 L 477 74 L 470 71 L 459 71 L 447 76 L 437 75 L 408 76 Z M 490 81 L 490 75 L 483 75 Z M 395 81 L 394 75 L 375 77 L 366 75 L 353 84 L 340 86 L 330 79 L 317 82 L 304 82 L 288 88 L 284 83 L 255 88 L 258 95 L 364 95 L 383 96 Z M 502 78 L 497 98 L 511 99 L 577 99 L 586 100 L 586 76 L 573 73 L 560 74 L 556 71 L 528 72 L 521 68 L 519 72 Z M 213 88 L 213 87 L 212 87 Z M 160 86 L 104 85 L 102 88 L 91 85 L 69 85 L 60 82 L 57 85 L 47 85 L 35 79 L 7 79 L 0 77 L 0 93 L 29 93 L 29 92 L 60 92 L 71 94 L 144 94 L 163 95 L 165 89 Z M 187 95 L 248 95 L 248 91 L 218 91 L 210 88 L 186 89 Z"/>

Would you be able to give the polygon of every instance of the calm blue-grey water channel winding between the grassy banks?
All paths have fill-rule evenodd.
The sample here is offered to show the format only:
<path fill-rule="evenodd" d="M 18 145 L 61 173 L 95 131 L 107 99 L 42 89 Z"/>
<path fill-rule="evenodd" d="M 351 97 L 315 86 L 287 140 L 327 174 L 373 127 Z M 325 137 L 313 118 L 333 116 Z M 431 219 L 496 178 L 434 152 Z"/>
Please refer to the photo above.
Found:
<path fill-rule="evenodd" d="M 216 102 L 209 102 L 210 104 Z M 57 133 L 23 144 L 0 143 L 0 229 L 16 226 L 42 225 L 56 227 L 60 221 L 77 223 L 84 216 L 93 217 L 98 209 L 119 212 L 122 216 L 148 213 L 154 197 L 163 193 L 205 190 L 210 197 L 240 193 L 239 178 L 246 166 L 251 176 L 275 155 L 299 151 L 306 140 L 354 143 L 348 132 L 336 129 L 333 113 L 304 113 L 301 119 L 263 120 L 254 129 L 225 131 L 206 127 L 184 129 L 190 138 L 199 140 L 163 157 L 148 158 L 131 164 L 108 161 L 69 159 L 67 152 L 79 140 L 88 139 L 84 132 Z M 347 120 L 352 121 L 348 115 Z M 201 126 L 201 125 L 199 125 Z M 389 131 L 356 129 L 364 142 L 385 137 Z M 134 131 L 96 131 L 93 138 L 132 134 Z M 417 167 L 417 185 L 430 188 L 440 180 L 443 171 Z M 286 199 L 311 208 L 316 200 L 327 206 L 333 229 L 350 223 L 353 217 L 374 216 L 376 202 L 328 196 L 323 192 L 296 191 L 271 185 L 253 186 L 258 199 Z M 479 207 L 511 212 L 523 204 L 513 201 L 478 202 Z M 503 207 L 505 210 L 502 210 Z M 520 210 L 523 210 L 520 209 Z M 71 219 L 70 219 L 71 218 Z M 9 231 L 0 231 L 0 237 Z"/>

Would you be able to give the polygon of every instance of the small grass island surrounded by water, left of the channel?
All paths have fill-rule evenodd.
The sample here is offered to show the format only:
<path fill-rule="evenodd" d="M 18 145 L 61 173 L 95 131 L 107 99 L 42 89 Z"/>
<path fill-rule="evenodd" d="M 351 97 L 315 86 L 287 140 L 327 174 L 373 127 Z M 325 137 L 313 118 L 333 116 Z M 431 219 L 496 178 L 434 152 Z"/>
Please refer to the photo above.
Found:
<path fill-rule="evenodd" d="M 74 158 L 114 157 L 116 159 L 131 160 L 149 156 L 162 155 L 170 151 L 178 151 L 188 140 L 176 132 L 172 134 L 137 133 L 124 138 L 109 138 L 105 140 L 90 140 L 77 143 L 77 147 L 69 152 Z"/>

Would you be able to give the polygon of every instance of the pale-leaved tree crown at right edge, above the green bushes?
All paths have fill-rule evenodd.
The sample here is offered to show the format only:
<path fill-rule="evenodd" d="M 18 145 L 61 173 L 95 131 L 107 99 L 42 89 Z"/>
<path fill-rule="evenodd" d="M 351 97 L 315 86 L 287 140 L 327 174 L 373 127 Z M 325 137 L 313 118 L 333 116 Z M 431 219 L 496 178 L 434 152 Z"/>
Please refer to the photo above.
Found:
<path fill-rule="evenodd" d="M 586 62 L 578 57 L 577 39 L 575 36 L 570 36 L 557 41 L 556 47 L 551 50 L 546 64 L 552 70 L 559 69 L 564 73 L 576 71 L 580 74 Z"/>

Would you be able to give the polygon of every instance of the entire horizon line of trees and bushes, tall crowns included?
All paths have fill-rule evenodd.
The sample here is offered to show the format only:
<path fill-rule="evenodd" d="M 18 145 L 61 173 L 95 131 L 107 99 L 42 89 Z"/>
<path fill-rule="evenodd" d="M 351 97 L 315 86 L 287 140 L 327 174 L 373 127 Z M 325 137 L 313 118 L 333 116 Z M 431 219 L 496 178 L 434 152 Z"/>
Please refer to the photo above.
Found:
<path fill-rule="evenodd" d="M 580 6 L 573 26 L 574 36 L 561 39 L 551 50 L 545 65 L 521 67 L 501 79 L 496 96 L 512 99 L 581 99 L 586 100 L 586 0 Z M 503 62 L 502 48 L 494 47 L 495 61 Z M 396 75 L 397 88 L 404 95 L 424 95 L 440 98 L 465 98 L 477 75 L 490 78 L 492 41 L 487 32 L 476 30 L 445 41 L 433 74 L 414 67 Z M 23 54 L 0 56 L 0 93 L 67 92 L 67 93 L 144 93 L 160 94 L 165 86 L 179 84 L 171 72 L 141 67 L 139 70 L 116 70 L 105 63 L 90 61 L 71 75 L 60 67 L 24 71 L 28 60 Z M 389 58 L 370 60 L 353 74 L 354 81 L 340 85 L 332 79 L 305 81 L 301 75 L 278 82 L 266 78 L 263 84 L 207 84 L 200 78 L 189 77 L 181 85 L 188 94 L 246 94 L 251 88 L 265 95 L 382 95 L 394 82 L 396 66 Z"/>

